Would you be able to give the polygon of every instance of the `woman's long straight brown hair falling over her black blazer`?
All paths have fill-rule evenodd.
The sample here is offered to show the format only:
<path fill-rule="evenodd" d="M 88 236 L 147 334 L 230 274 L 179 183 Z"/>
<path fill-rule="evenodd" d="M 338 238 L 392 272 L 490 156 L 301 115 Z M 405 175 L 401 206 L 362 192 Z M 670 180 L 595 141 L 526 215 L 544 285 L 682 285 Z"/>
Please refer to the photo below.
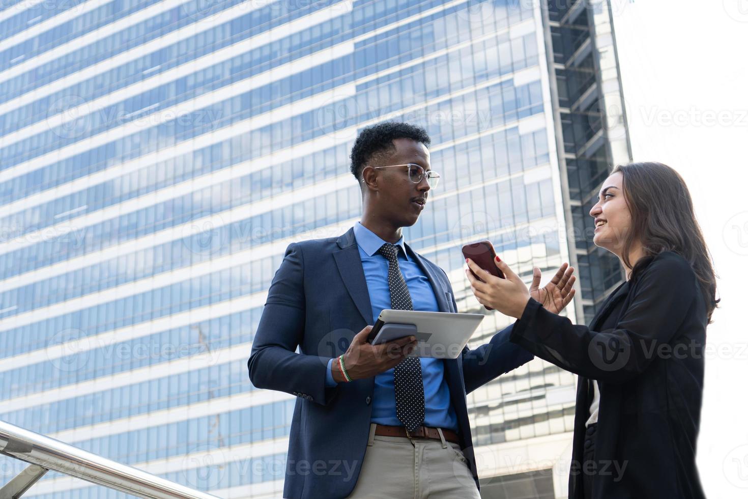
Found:
<path fill-rule="evenodd" d="M 631 269 L 628 255 L 637 241 L 644 251 L 644 257 L 631 270 L 631 278 L 662 251 L 680 254 L 699 279 L 711 322 L 711 313 L 720 301 L 716 295 L 717 277 L 683 178 L 657 162 L 619 165 L 613 169 L 616 172 L 623 175 L 623 192 L 633 229 L 624 241 L 623 262 Z"/>

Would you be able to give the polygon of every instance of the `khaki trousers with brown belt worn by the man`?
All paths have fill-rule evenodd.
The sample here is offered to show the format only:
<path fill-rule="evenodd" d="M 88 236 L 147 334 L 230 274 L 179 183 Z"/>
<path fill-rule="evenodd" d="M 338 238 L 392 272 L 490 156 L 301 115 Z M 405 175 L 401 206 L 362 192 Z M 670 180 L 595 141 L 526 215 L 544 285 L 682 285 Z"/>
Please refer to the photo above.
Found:
<path fill-rule="evenodd" d="M 480 499 L 458 444 L 374 435 L 372 423 L 352 499 Z"/>

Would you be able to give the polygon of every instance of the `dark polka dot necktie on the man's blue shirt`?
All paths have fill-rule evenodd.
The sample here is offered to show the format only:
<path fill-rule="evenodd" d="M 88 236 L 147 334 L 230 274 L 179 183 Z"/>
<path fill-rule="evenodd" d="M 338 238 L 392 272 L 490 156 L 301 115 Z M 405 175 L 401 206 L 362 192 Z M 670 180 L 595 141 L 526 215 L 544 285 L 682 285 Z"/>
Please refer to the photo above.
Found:
<path fill-rule="evenodd" d="M 413 301 L 397 263 L 400 247 L 386 242 L 377 253 L 389 262 L 387 283 L 390 284 L 390 306 L 393 310 L 413 310 Z M 395 366 L 395 412 L 405 428 L 414 430 L 423 424 L 423 376 L 420 358 L 405 357 Z"/>

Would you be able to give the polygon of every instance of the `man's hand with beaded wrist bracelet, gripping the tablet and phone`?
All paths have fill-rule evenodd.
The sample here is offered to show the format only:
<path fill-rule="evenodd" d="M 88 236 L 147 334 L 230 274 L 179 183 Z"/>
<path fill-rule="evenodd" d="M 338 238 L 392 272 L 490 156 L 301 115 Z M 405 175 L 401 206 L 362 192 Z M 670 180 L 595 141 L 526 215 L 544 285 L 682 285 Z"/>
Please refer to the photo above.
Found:
<path fill-rule="evenodd" d="M 418 343 L 415 337 L 406 336 L 381 345 L 372 345 L 367 341 L 371 330 L 370 325 L 361 329 L 353 337 L 346 353 L 343 354 L 346 372 L 352 380 L 370 378 L 392 369 L 412 352 Z M 339 358 L 332 363 L 332 377 L 338 383 L 346 381 L 343 379 L 343 373 L 340 372 L 339 363 Z"/>

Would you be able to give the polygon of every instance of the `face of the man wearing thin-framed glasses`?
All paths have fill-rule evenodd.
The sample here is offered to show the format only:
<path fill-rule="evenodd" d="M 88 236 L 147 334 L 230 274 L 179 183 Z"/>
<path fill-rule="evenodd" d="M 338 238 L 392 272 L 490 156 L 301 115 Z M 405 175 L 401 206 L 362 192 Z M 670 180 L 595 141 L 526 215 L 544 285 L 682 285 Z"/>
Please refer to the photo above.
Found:
<path fill-rule="evenodd" d="M 429 150 L 420 142 L 411 138 L 393 140 L 395 151 L 383 154 L 381 159 L 371 166 L 387 165 L 420 165 L 424 172 L 431 170 Z M 413 167 L 411 167 L 413 168 Z M 416 168 L 417 169 L 417 168 Z M 396 227 L 410 227 L 426 207 L 429 197 L 429 183 L 426 175 L 419 183 L 411 180 L 408 168 L 378 168 L 376 172 L 375 209 L 379 216 L 387 218 Z M 415 173 L 415 172 L 414 172 Z"/>

